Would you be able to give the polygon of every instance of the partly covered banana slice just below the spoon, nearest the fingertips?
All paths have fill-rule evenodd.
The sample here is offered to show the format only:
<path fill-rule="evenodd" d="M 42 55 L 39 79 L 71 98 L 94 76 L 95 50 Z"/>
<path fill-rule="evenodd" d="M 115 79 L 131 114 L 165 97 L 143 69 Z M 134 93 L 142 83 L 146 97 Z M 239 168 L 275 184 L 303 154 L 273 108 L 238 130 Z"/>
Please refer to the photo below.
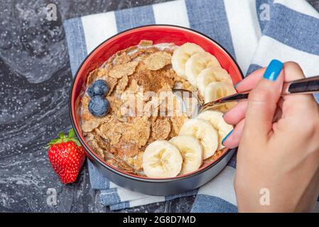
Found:
<path fill-rule="evenodd" d="M 218 150 L 225 148 L 225 146 L 222 145 L 222 139 L 225 138 L 225 136 L 232 131 L 234 127 L 225 122 L 222 117 L 222 112 L 212 110 L 204 111 L 198 114 L 198 119 L 209 121 L 212 126 L 217 129 L 219 143 Z"/>

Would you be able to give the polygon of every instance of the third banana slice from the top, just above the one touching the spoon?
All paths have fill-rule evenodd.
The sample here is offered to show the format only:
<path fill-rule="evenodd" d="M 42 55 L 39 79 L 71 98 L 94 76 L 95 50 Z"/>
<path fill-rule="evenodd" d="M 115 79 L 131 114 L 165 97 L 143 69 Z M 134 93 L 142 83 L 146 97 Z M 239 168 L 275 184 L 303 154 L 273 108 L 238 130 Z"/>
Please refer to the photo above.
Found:
<path fill-rule="evenodd" d="M 202 70 L 197 77 L 198 91 L 203 96 L 205 87 L 211 82 L 227 82 L 232 84 L 232 78 L 228 72 L 221 67 L 209 67 Z"/>

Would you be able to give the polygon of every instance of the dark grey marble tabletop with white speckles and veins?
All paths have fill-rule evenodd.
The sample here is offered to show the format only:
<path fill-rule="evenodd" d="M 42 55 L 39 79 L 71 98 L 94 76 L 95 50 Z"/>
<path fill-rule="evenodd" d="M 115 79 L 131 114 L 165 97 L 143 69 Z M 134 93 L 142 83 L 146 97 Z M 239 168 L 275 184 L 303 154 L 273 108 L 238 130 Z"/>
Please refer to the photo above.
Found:
<path fill-rule="evenodd" d="M 58 21 L 45 20 L 49 3 Z M 1 0 L 0 2 L 0 211 L 109 212 L 90 189 L 87 167 L 75 184 L 63 185 L 48 162 L 48 140 L 67 132 L 72 76 L 62 23 L 67 18 L 162 0 Z M 319 0 L 310 0 L 319 9 Z M 48 189 L 57 205 L 47 204 Z M 126 209 L 188 212 L 194 196 Z M 121 211 L 123 212 L 123 211 Z"/>

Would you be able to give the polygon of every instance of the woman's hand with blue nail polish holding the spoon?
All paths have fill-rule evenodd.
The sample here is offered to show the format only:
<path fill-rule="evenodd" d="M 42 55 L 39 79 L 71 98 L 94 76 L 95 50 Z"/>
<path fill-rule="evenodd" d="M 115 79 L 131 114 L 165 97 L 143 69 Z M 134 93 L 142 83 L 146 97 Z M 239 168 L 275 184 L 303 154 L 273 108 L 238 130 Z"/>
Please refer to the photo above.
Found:
<path fill-rule="evenodd" d="M 273 60 L 237 85 L 239 92 L 252 89 L 248 101 L 224 116 L 236 125 L 223 144 L 239 146 L 234 181 L 239 211 L 311 211 L 315 205 L 319 106 L 311 94 L 280 96 L 283 81 L 303 77 L 295 62 Z"/>

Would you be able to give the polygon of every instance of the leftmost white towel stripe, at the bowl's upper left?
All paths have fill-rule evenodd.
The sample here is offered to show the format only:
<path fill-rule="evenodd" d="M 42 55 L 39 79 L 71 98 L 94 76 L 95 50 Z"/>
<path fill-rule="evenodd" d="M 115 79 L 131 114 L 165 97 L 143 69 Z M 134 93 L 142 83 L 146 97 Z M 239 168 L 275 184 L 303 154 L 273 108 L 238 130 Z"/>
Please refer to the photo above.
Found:
<path fill-rule="evenodd" d="M 82 25 L 87 53 L 90 53 L 104 40 L 117 33 L 114 11 L 83 16 Z"/>

